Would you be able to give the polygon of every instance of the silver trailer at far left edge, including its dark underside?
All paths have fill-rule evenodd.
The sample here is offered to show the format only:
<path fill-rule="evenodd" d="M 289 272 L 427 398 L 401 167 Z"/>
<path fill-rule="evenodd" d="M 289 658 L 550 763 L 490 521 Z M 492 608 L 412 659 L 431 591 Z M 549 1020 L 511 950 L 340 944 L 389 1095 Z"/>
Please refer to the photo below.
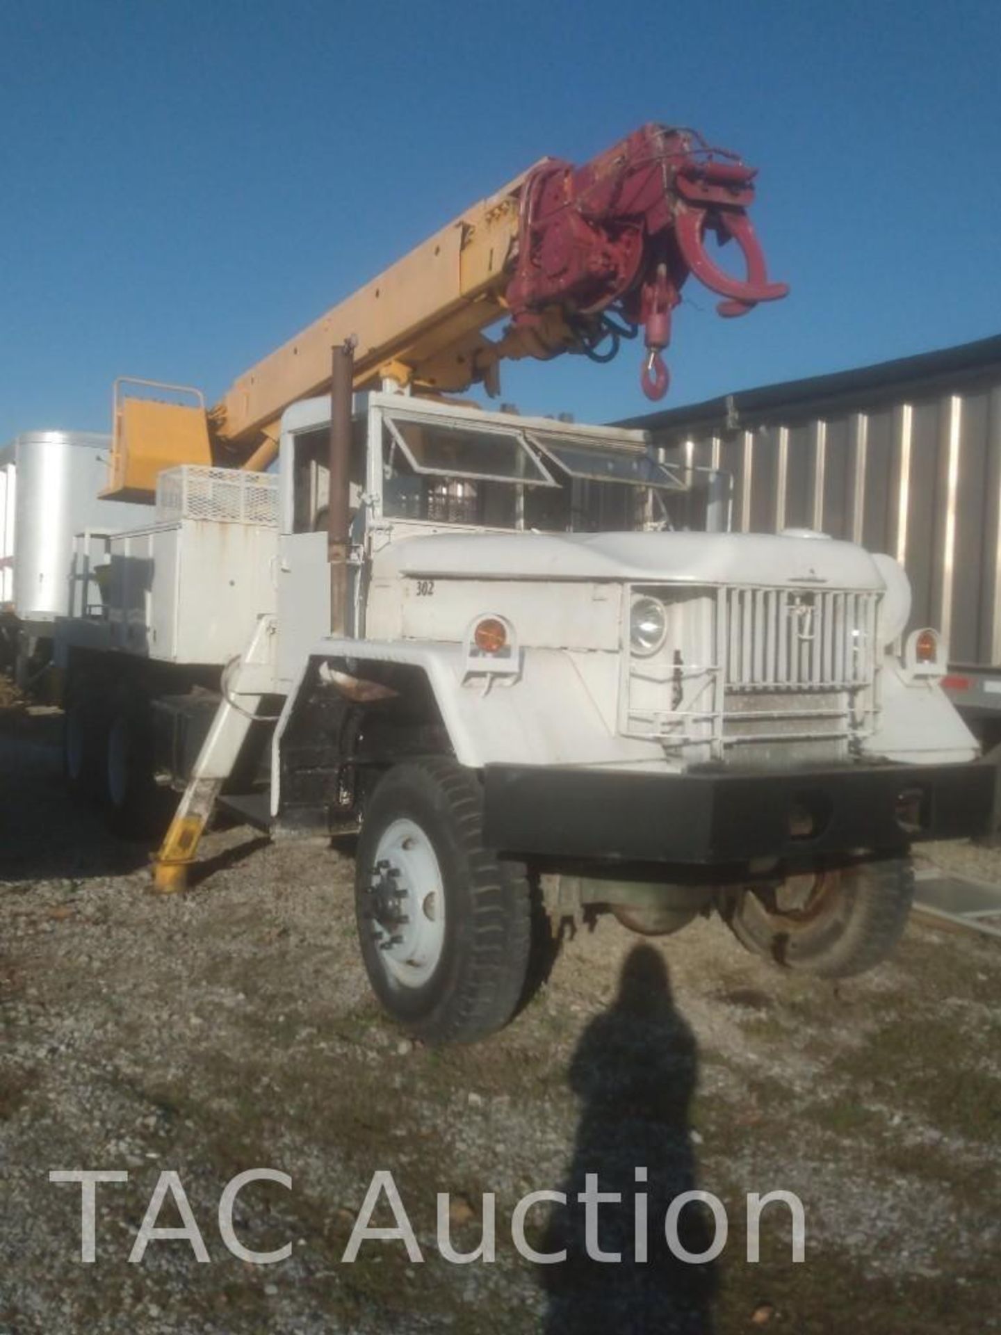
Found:
<path fill-rule="evenodd" d="M 109 534 L 148 513 L 99 495 L 109 454 L 95 431 L 24 431 L 0 449 L 0 659 L 20 686 L 47 670 L 56 617 L 100 601 Z"/>

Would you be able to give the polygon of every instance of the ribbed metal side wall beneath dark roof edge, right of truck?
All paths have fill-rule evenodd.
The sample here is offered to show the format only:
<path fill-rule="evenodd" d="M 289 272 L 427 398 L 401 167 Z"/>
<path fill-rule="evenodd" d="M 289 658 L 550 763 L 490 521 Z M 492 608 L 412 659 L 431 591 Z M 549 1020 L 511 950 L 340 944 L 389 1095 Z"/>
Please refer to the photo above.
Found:
<path fill-rule="evenodd" d="M 770 406 L 735 430 L 686 431 L 681 410 L 651 429 L 669 458 L 731 475 L 733 529 L 821 529 L 889 551 L 910 575 L 912 626 L 942 630 L 954 663 L 1000 665 L 1001 370 L 920 391 Z"/>

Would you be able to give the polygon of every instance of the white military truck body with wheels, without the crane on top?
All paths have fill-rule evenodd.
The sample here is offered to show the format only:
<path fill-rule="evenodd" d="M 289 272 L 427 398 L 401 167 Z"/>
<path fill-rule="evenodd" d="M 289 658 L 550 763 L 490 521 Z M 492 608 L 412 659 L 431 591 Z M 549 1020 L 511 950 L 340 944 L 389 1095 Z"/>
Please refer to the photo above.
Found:
<path fill-rule="evenodd" d="M 376 392 L 331 447 L 331 399 L 299 402 L 276 474 L 161 473 L 104 605 L 60 623 L 71 782 L 119 821 L 184 786 L 165 888 L 224 784 L 275 834 L 360 830 L 368 976 L 434 1041 L 511 1017 L 543 909 L 717 912 L 786 967 L 861 972 L 910 844 L 985 829 L 993 769 L 934 633 L 898 642 L 896 561 L 682 531 L 686 501 L 639 430 Z"/>

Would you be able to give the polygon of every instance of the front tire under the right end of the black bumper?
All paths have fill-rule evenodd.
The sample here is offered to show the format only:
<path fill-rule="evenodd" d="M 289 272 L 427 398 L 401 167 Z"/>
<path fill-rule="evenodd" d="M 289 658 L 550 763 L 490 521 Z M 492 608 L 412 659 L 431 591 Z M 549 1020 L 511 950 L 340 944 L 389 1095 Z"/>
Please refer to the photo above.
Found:
<path fill-rule="evenodd" d="M 791 876 L 775 888 L 741 890 L 729 913 L 754 955 L 823 979 L 846 979 L 894 949 L 914 898 L 910 858 Z"/>

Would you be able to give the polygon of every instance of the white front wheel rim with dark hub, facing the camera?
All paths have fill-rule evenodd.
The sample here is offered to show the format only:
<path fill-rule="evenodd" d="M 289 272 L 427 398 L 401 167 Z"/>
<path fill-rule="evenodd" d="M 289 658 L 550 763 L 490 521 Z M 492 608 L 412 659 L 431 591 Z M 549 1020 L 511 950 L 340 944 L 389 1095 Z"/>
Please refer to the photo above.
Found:
<path fill-rule="evenodd" d="M 434 845 L 414 821 L 396 820 L 383 830 L 368 898 L 367 925 L 383 968 L 400 987 L 422 987 L 444 947 L 444 886 Z M 395 906 L 391 914 L 387 902 Z"/>

